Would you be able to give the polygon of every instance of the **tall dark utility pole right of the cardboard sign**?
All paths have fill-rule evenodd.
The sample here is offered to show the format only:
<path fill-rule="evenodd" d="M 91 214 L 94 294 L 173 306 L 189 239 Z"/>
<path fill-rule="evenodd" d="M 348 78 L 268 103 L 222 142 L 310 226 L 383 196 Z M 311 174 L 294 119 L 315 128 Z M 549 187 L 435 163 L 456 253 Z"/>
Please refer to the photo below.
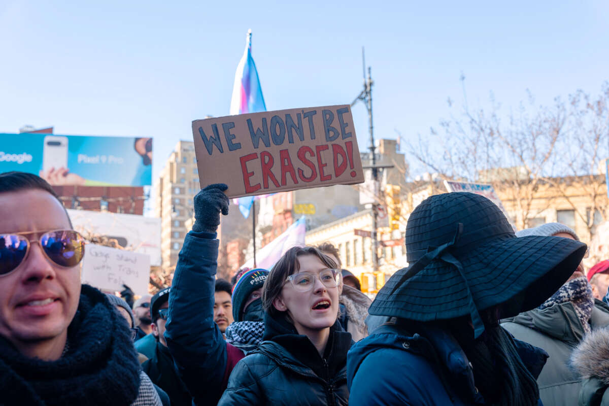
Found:
<path fill-rule="evenodd" d="M 372 182 L 374 187 L 374 198 L 375 201 L 372 202 L 372 231 L 371 231 L 371 240 L 372 240 L 372 270 L 373 272 L 378 272 L 379 270 L 379 257 L 378 257 L 378 236 L 376 234 L 376 229 L 378 228 L 378 203 L 376 199 L 378 199 L 380 191 L 379 191 L 379 167 L 376 165 L 376 145 L 375 145 L 375 136 L 373 132 L 372 125 L 372 74 L 371 68 L 368 66 L 368 78 L 366 78 L 366 62 L 364 55 L 364 47 L 362 47 L 362 71 L 364 74 L 364 89 L 361 91 L 359 96 L 353 100 L 351 103 L 351 107 L 359 100 L 365 103 L 366 108 L 368 110 L 368 131 L 370 132 L 370 145 L 368 149 L 370 150 L 370 165 L 364 166 L 364 168 L 370 168 L 372 170 Z M 375 276 L 375 286 L 376 290 L 376 276 Z"/>

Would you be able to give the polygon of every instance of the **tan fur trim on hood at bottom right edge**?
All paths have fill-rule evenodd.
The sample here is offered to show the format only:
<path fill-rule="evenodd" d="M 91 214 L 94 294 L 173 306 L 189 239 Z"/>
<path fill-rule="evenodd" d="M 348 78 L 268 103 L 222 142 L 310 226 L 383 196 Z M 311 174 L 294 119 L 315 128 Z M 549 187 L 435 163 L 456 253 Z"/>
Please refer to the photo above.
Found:
<path fill-rule="evenodd" d="M 583 378 L 609 385 L 609 327 L 587 334 L 571 354 L 571 365 Z"/>

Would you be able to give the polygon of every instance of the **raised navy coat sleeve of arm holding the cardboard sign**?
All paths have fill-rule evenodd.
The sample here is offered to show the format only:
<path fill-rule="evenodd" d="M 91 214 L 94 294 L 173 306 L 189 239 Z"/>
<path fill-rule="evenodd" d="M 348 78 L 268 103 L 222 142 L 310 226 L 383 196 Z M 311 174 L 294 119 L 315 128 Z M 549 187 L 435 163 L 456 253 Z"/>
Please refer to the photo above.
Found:
<path fill-rule="evenodd" d="M 169 293 L 165 339 L 195 405 L 220 399 L 227 367 L 227 344 L 214 323 L 219 245 L 215 237 L 186 234 Z"/>

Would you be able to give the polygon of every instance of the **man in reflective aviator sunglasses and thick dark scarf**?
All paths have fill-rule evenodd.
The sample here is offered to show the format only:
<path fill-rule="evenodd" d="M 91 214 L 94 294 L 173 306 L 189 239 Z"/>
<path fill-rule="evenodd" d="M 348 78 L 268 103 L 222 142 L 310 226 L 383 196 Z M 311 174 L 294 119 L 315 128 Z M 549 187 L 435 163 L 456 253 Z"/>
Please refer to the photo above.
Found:
<path fill-rule="evenodd" d="M 80 284 L 85 242 L 42 178 L 0 173 L 2 405 L 160 405 L 127 324 Z"/>

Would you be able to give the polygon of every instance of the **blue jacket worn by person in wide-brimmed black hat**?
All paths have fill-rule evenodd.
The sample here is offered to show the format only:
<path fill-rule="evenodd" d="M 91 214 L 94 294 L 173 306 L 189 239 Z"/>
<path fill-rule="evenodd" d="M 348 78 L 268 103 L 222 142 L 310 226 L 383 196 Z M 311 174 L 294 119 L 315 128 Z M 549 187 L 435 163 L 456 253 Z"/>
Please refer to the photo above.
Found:
<path fill-rule="evenodd" d="M 385 323 L 351 347 L 347 355 L 349 405 L 484 405 L 465 353 L 454 338 L 440 329 L 429 329 L 426 336 L 410 335 L 403 327 Z M 527 369 L 537 378 L 546 352 L 514 341 Z"/>

